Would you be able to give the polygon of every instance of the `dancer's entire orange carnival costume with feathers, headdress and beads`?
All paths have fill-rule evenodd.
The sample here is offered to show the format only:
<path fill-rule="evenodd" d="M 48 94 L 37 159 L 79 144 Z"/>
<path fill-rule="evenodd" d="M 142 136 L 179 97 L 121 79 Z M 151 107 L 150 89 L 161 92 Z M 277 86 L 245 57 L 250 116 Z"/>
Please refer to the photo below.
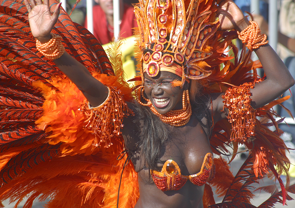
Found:
<path fill-rule="evenodd" d="M 57 4 L 55 0 L 50 1 L 51 7 Z M 225 93 L 229 120 L 215 124 L 210 139 L 213 152 L 216 155 L 229 153 L 226 148 L 229 143 L 233 144 L 234 153 L 239 143 L 249 150 L 249 157 L 236 176 L 221 157 L 213 160 L 211 155 L 205 157 L 202 171 L 208 172 L 214 163 L 215 176 L 209 176 L 212 172 L 209 171 L 208 177 L 200 183 L 205 184 L 204 207 L 254 207 L 250 204 L 251 184 L 267 175 L 278 179 L 282 191 L 275 192 L 261 207 L 290 200 L 286 191 L 295 193 L 295 186 L 287 184 L 285 189 L 280 179 L 280 174 L 288 172 L 287 147 L 279 137 L 282 132 L 271 111 L 274 105 L 287 98 L 256 110 L 251 107 L 249 89 L 259 82 L 255 72 L 261 65 L 252 62 L 251 53 L 246 53 L 245 49 L 234 62 L 230 61 L 231 56 L 224 54 L 228 46 L 237 54 L 231 43 L 237 33 L 217 30 L 216 10 L 213 0 L 148 0 L 146 3 L 140 0 L 135 7 L 141 26 L 136 33 L 138 46 L 140 51 L 150 49 L 153 52 L 138 53 L 141 75 L 134 79 L 137 90 L 132 93 L 121 77 L 117 43 L 108 51 L 112 67 L 95 37 L 71 22 L 61 10 L 52 30 L 56 34 L 52 35 L 52 42 L 46 47 L 38 43 L 37 51 L 25 6 L 18 0 L 1 0 L 0 199 L 10 198 L 18 204 L 28 196 L 24 207 L 31 207 L 36 198 L 42 201 L 50 197 L 47 207 L 72 208 L 115 207 L 119 198 L 119 207 L 134 207 L 139 196 L 137 173 L 128 163 L 120 132 L 122 119 L 133 114 L 125 102 L 135 97 L 153 111 L 148 100 L 141 100 L 143 72 L 146 70 L 153 77 L 162 65 L 170 67 L 177 62 L 182 80 L 175 81 L 175 86 L 182 86 L 189 79 L 199 79 L 204 93 Z M 260 35 L 255 26 L 248 30 Z M 250 49 L 265 42 L 264 36 L 253 42 L 247 40 L 244 33 L 239 35 Z M 63 50 L 108 86 L 109 96 L 102 105 L 89 106 L 82 92 L 50 60 L 60 56 Z M 224 64 L 222 70 L 221 64 Z M 250 74 L 250 70 L 254 73 Z M 183 111 L 189 109 L 187 94 Z M 161 119 L 170 125 L 183 125 L 187 118 L 179 116 L 182 113 L 189 114 L 189 111 L 171 112 L 168 116 L 177 114 L 174 118 L 183 118 L 178 122 L 171 122 L 167 117 Z M 276 131 L 269 130 L 270 125 L 275 125 Z M 181 175 L 177 163 L 173 162 L 166 164 L 173 164 L 173 171 L 151 171 L 152 176 L 159 178 L 164 172 L 164 182 L 169 177 L 181 176 L 185 182 L 187 178 L 197 178 Z M 168 177 L 171 172 L 176 175 Z M 219 196 L 224 196 L 222 203 L 215 204 L 211 186 L 217 188 Z"/>

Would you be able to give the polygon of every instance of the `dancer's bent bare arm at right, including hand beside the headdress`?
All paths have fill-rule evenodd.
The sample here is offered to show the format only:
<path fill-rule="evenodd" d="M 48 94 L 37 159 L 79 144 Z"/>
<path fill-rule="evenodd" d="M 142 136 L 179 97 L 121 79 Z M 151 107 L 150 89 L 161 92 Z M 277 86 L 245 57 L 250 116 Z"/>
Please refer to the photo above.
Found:
<path fill-rule="evenodd" d="M 232 0 L 221 2 L 217 12 L 222 30 L 236 29 L 241 32 L 250 25 L 243 12 Z M 256 83 L 254 89 L 251 89 L 251 106 L 253 108 L 260 108 L 275 100 L 293 86 L 294 79 L 289 73 L 288 68 L 269 44 L 261 45 L 259 48 L 253 49 L 253 51 L 258 56 L 267 77 L 264 81 Z M 217 98 L 216 101 L 218 102 L 216 104 L 220 112 L 220 109 L 223 108 L 222 100 Z"/>

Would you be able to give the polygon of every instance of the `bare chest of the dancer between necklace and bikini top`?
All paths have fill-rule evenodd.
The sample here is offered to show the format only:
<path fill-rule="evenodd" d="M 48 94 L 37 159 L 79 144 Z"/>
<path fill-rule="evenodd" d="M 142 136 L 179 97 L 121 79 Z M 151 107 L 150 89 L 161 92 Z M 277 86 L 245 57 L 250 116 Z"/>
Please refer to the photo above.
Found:
<path fill-rule="evenodd" d="M 206 132 L 207 131 L 207 132 Z M 191 119 L 185 127 L 171 127 L 171 138 L 165 143 L 159 157 L 158 167 L 161 169 L 167 160 L 175 161 L 182 175 L 192 175 L 200 172 L 204 157 L 212 153 L 208 139 L 207 128 L 204 128 L 197 119 Z M 132 155 L 135 171 L 143 181 L 150 180 L 149 167 L 141 156 L 141 150 Z"/>

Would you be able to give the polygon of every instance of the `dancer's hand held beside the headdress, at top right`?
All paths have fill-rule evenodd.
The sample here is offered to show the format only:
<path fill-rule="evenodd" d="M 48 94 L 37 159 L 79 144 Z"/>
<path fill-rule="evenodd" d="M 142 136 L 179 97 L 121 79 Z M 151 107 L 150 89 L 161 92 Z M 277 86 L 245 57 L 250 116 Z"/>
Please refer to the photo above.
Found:
<path fill-rule="evenodd" d="M 236 29 L 242 31 L 250 24 L 243 12 L 232 0 L 220 2 L 217 15 L 221 30 Z"/>

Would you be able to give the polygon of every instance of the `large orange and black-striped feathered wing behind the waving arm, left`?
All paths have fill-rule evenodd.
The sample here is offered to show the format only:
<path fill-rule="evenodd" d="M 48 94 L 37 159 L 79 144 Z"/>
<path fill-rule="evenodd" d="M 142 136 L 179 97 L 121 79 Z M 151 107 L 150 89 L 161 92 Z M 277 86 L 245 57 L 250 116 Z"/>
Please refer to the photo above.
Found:
<path fill-rule="evenodd" d="M 51 7 L 59 2 L 50 0 Z M 52 10 L 54 8 L 51 8 Z M 115 77 L 95 37 L 61 10 L 53 29 L 66 51 L 97 79 L 117 86 L 130 100 L 130 88 Z M 22 1 L 0 0 L 0 198 L 17 204 L 28 197 L 47 207 L 114 207 L 127 156 L 117 136 L 109 148 L 93 146 L 82 92 L 36 50 Z M 120 207 L 138 198 L 137 175 L 129 163 L 123 172 Z M 17 206 L 16 204 L 16 206 Z M 0 204 L 1 205 L 1 204 Z"/>

